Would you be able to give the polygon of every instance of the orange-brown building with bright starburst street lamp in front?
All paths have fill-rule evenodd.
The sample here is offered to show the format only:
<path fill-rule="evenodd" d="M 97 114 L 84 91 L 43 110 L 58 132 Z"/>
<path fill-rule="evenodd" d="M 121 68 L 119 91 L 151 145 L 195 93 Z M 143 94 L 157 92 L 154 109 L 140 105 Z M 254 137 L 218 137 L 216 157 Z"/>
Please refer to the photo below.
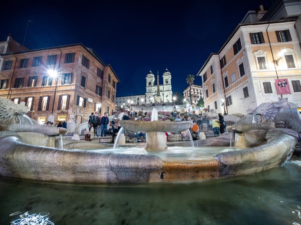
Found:
<path fill-rule="evenodd" d="M 41 123 L 88 120 L 93 111 L 116 108 L 116 83 L 109 64 L 83 44 L 0 54 L 0 96 L 25 102 L 28 115 Z"/>

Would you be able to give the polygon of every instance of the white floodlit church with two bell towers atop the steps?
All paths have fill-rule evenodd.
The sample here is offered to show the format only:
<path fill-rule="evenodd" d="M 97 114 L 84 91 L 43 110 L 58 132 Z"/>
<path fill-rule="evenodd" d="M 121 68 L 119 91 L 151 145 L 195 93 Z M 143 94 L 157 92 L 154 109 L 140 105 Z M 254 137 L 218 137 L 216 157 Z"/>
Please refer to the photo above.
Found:
<path fill-rule="evenodd" d="M 161 102 L 173 102 L 172 91 L 172 74 L 166 68 L 163 75 L 163 84 L 159 81 L 159 71 L 157 72 L 157 84 L 155 84 L 155 75 L 152 70 L 149 70 L 146 75 L 146 103 L 161 103 Z"/>

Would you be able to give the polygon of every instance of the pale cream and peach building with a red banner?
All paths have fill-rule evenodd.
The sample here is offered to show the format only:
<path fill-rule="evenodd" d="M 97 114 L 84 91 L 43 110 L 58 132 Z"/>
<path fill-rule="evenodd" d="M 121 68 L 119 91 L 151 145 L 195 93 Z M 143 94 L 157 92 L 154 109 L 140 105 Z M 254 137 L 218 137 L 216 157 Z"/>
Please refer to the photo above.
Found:
<path fill-rule="evenodd" d="M 285 6 L 286 1 L 281 2 Z M 202 76 L 209 110 L 246 114 L 279 97 L 301 106 L 301 51 L 295 26 L 300 16 L 290 17 L 288 11 L 284 19 L 267 21 L 260 19 L 273 12 L 262 5 L 257 12 L 249 11 L 219 52 L 210 54 L 197 74 Z"/>

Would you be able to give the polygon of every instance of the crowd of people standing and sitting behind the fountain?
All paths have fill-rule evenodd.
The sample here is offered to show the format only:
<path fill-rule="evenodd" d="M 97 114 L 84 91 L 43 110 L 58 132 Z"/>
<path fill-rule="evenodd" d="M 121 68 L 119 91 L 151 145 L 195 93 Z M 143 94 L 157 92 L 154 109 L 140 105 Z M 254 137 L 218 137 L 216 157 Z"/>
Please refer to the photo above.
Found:
<path fill-rule="evenodd" d="M 147 112 L 145 112 L 146 114 Z M 145 115 L 144 114 L 144 115 Z M 174 110 L 171 112 L 172 119 L 175 121 L 191 121 L 193 125 L 188 130 L 178 132 L 178 134 L 182 135 L 183 140 L 188 140 L 193 138 L 196 140 L 199 138 L 200 131 L 213 131 L 214 136 L 219 136 L 220 133 L 225 132 L 226 123 L 224 120 L 224 116 L 222 113 L 218 114 L 214 117 L 203 117 L 202 114 L 195 114 L 195 111 L 192 114 L 180 116 L 179 112 Z M 112 117 L 112 116 L 111 116 Z M 118 132 L 121 129 L 119 124 L 120 119 L 123 120 L 139 120 L 141 119 L 141 115 L 137 115 L 137 112 L 128 112 L 124 113 L 122 118 L 119 118 L 117 114 L 113 118 L 110 119 L 108 113 L 105 112 L 102 116 L 98 114 L 97 111 L 92 112 L 89 115 L 88 124 L 86 130 L 84 131 L 85 140 L 91 141 L 95 136 L 112 136 L 111 143 L 114 143 L 114 139 L 117 136 Z M 47 124 L 52 125 L 50 121 Z M 63 120 L 62 122 L 59 121 L 57 124 L 58 127 L 67 128 L 67 122 Z M 138 142 L 138 141 L 145 141 L 145 132 L 130 132 L 127 130 L 122 131 L 124 135 L 127 137 L 126 141 L 129 142 Z M 177 132 L 166 132 L 167 140 L 169 140 L 169 136 L 172 134 L 177 134 Z"/>

